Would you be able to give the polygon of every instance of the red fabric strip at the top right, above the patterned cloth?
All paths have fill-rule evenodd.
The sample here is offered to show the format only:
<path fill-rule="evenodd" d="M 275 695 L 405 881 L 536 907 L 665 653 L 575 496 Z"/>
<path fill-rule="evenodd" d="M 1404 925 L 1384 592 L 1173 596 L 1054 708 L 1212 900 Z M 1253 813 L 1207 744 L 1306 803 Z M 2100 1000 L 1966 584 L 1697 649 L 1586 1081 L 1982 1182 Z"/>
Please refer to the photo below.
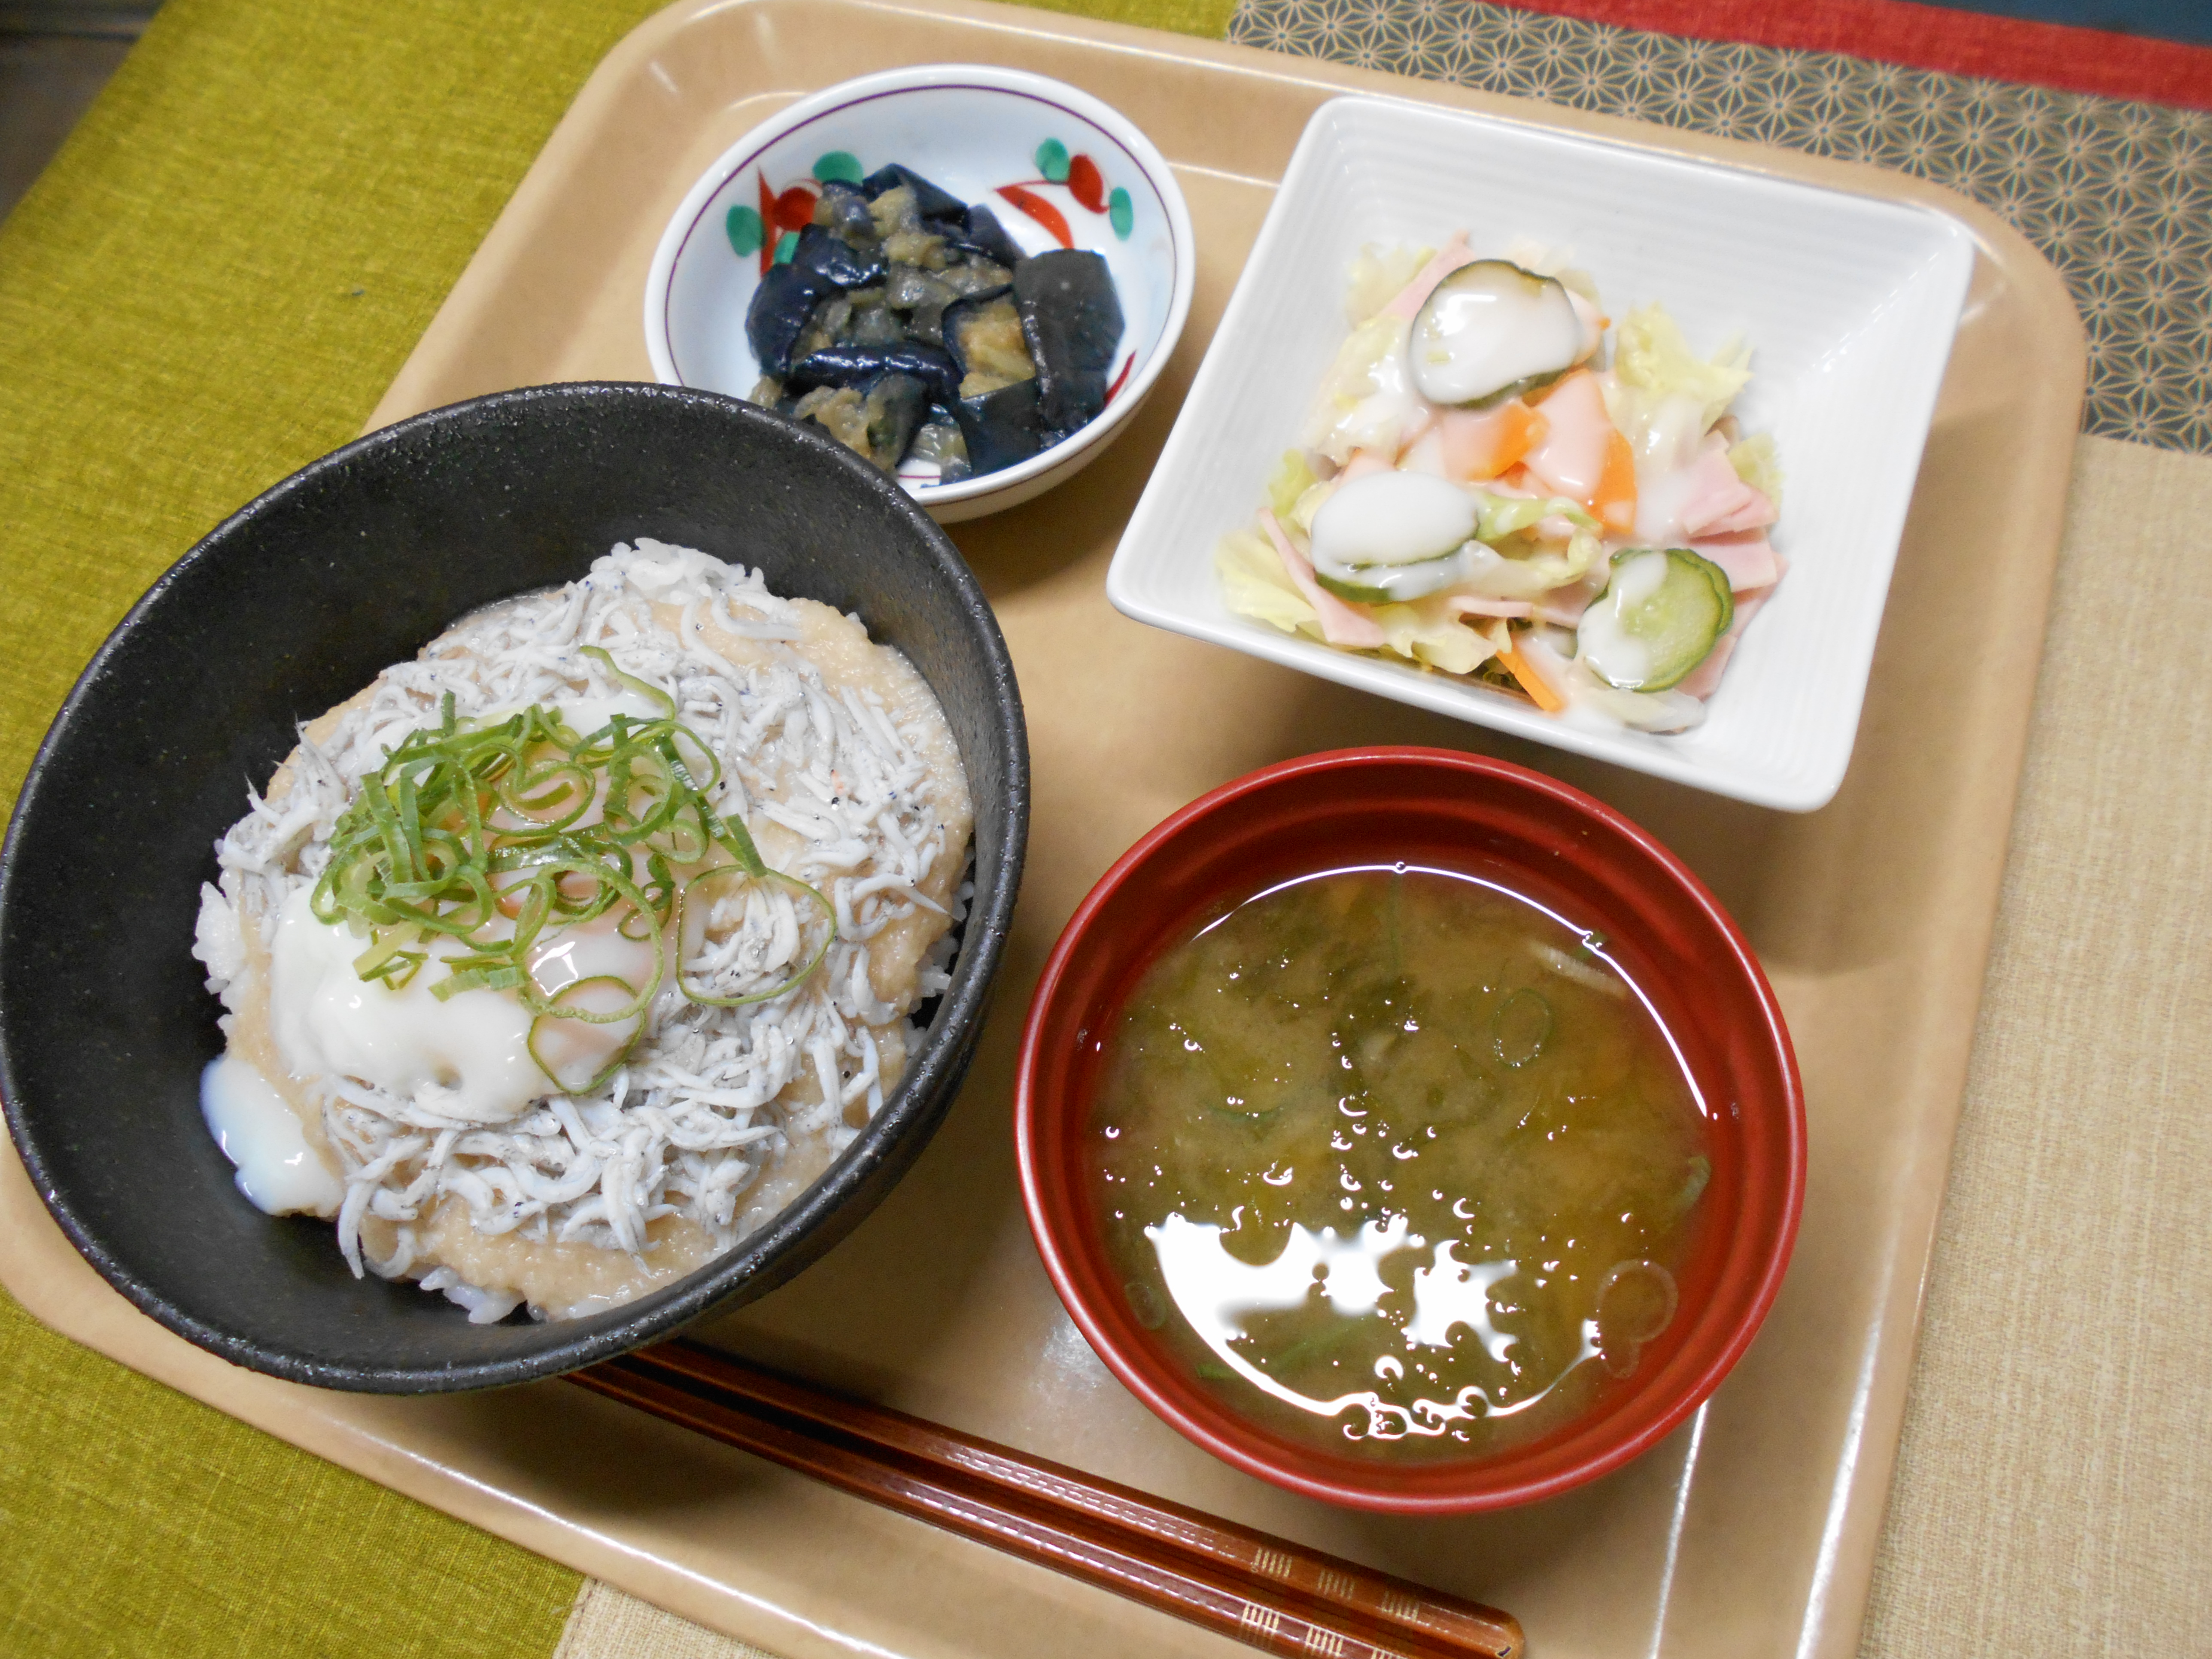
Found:
<path fill-rule="evenodd" d="M 1909 0 L 1511 0 L 1621 29 L 1754 46 L 1840 51 L 1947 75 L 2055 86 L 2212 111 L 2212 49 L 1920 7 Z"/>

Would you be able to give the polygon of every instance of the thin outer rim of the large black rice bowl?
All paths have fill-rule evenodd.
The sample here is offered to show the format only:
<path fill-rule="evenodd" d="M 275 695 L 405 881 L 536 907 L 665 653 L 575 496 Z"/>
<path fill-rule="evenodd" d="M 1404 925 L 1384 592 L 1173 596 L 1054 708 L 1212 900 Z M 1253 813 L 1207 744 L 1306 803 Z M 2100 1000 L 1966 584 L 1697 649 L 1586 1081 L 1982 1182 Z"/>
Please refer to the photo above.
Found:
<path fill-rule="evenodd" d="M 1029 836 L 1029 737 L 1022 719 L 1020 686 L 1013 675 L 1006 641 L 998 628 L 982 586 L 967 566 L 967 560 L 960 557 L 960 551 L 951 544 L 945 531 L 938 529 L 938 524 L 907 495 L 907 491 L 847 451 L 834 438 L 812 434 L 796 422 L 757 409 L 741 398 L 701 392 L 695 387 L 668 387 L 637 380 L 562 383 L 522 387 L 515 392 L 493 392 L 480 398 L 467 398 L 462 403 L 427 409 L 319 456 L 221 520 L 212 531 L 195 542 L 184 557 L 164 571 L 137 599 L 137 604 L 131 606 L 124 619 L 115 624 L 100 650 L 93 653 L 93 659 L 86 664 L 75 686 L 71 686 L 53 726 L 40 741 L 38 754 L 24 772 L 22 790 L 9 818 L 7 841 L 0 843 L 0 940 L 4 940 L 11 931 L 11 911 L 29 902 L 27 896 L 18 891 L 24 845 L 40 832 L 40 823 L 46 814 L 66 812 L 66 803 L 49 801 L 51 774 L 58 770 L 66 750 L 82 737 L 88 737 L 88 732 L 80 728 L 91 719 L 91 706 L 113 695 L 111 679 L 115 679 L 115 675 L 111 670 L 115 668 L 117 657 L 122 657 L 144 630 L 157 630 L 166 624 L 166 611 L 177 602 L 173 595 L 188 588 L 188 584 L 192 584 L 195 577 L 199 577 L 210 564 L 237 557 L 232 546 L 237 540 L 259 529 L 263 520 L 283 513 L 301 498 L 310 498 L 321 491 L 325 482 L 345 478 L 363 462 L 369 462 L 369 476 L 376 476 L 376 465 L 387 456 L 387 451 L 405 456 L 405 451 L 425 436 L 438 434 L 447 427 L 473 429 L 482 425 L 498 431 L 533 418 L 560 416 L 571 407 L 588 409 L 593 405 L 710 409 L 712 418 L 732 422 L 739 429 L 750 427 L 754 434 L 765 436 L 772 445 L 796 445 L 803 451 L 814 451 L 821 460 L 827 460 L 836 471 L 841 471 L 849 487 L 876 495 L 878 502 L 891 507 L 896 518 L 905 520 L 905 526 L 918 542 L 914 551 L 925 555 L 933 580 L 951 591 L 958 611 L 971 628 L 969 644 L 978 646 L 984 657 L 991 684 L 991 723 L 1004 752 L 1004 799 L 995 810 L 987 810 L 984 803 L 975 799 L 973 757 L 962 750 L 960 759 L 962 770 L 969 774 L 971 799 L 975 799 L 975 823 L 967 856 L 975 858 L 980 876 L 980 849 L 984 838 L 991 836 L 1000 849 L 995 878 L 989 887 L 982 880 L 975 883 L 975 894 L 969 902 L 964 920 L 960 922 L 960 949 L 951 962 L 951 987 L 942 993 L 936 1015 L 922 1031 L 920 1042 L 914 1046 L 907 1071 L 900 1075 L 896 1088 L 885 1097 L 883 1110 L 876 1113 L 852 1146 L 847 1146 L 832 1161 L 832 1166 L 814 1179 L 812 1186 L 801 1190 L 799 1197 L 794 1197 L 757 1232 L 743 1237 L 732 1250 L 714 1256 L 710 1263 L 692 1274 L 686 1274 L 675 1285 L 613 1307 L 606 1314 L 580 1321 L 535 1323 L 531 1329 L 549 1336 L 551 1340 L 524 1354 L 476 1363 L 431 1367 L 319 1363 L 259 1338 L 223 1329 L 168 1301 L 168 1296 L 146 1283 L 146 1279 L 139 1276 L 128 1261 L 113 1252 L 100 1239 L 97 1230 L 77 1214 L 66 1186 L 55 1179 L 55 1172 L 42 1155 L 40 1119 L 49 1113 L 24 1106 L 15 1053 L 18 1026 L 31 1024 L 38 1018 L 40 987 L 31 987 L 31 995 L 22 1000 L 0 998 L 0 1113 L 7 1117 L 15 1152 L 22 1157 L 24 1170 L 31 1177 L 40 1201 L 46 1206 L 46 1212 L 55 1219 L 77 1252 L 91 1261 L 100 1276 L 122 1292 L 139 1312 L 148 1314 L 166 1329 L 184 1336 L 197 1347 L 252 1371 L 279 1376 L 290 1383 L 341 1387 L 367 1394 L 449 1394 L 507 1387 L 513 1383 L 557 1376 L 562 1371 L 593 1365 L 597 1360 L 613 1358 L 615 1354 L 641 1347 L 644 1343 L 672 1334 L 677 1327 L 708 1314 L 719 1303 L 741 1292 L 745 1292 L 748 1301 L 765 1294 L 803 1267 L 812 1265 L 843 1237 L 845 1230 L 823 1234 L 821 1228 L 838 1210 L 843 1210 L 849 1199 L 865 1199 L 865 1208 L 847 1219 L 847 1228 L 858 1225 L 867 1210 L 872 1210 L 898 1181 L 898 1177 L 905 1175 L 907 1166 L 911 1166 L 911 1161 L 929 1144 L 936 1126 L 951 1108 L 958 1084 L 967 1073 L 969 1060 L 973 1057 L 991 982 L 998 973 L 1006 936 L 1011 931 Z M 588 557 L 597 557 L 604 549 L 575 549 L 571 553 L 588 553 Z M 721 555 L 717 553 L 714 557 Z M 553 586 L 553 582 L 542 586 Z M 520 597 L 520 591 L 504 597 Z M 812 595 L 787 588 L 781 591 L 779 597 Z M 467 611 L 453 615 L 445 626 L 460 622 L 462 615 L 480 606 L 469 606 Z M 860 622 L 867 624 L 867 617 L 863 615 Z M 869 641 L 887 644 L 876 639 L 874 630 L 869 633 Z M 427 644 L 427 639 L 422 644 Z M 916 672 L 920 672 L 918 666 Z M 929 684 L 927 675 L 922 679 Z M 931 697 L 938 697 L 936 686 L 931 686 Z M 942 697 L 938 697 L 938 701 L 942 706 Z M 958 730 L 953 732 L 953 743 L 960 748 Z M 188 951 L 190 940 L 179 938 L 170 945 L 177 951 Z M 20 969 L 0 962 L 0 984 L 18 971 Z M 215 1018 L 212 1009 L 215 1002 L 210 998 L 210 1022 Z M 281 1223 L 279 1217 L 268 1217 L 268 1221 L 272 1225 Z M 465 1323 L 467 1318 L 458 1307 L 453 1307 L 451 1314 L 456 1323 Z"/>

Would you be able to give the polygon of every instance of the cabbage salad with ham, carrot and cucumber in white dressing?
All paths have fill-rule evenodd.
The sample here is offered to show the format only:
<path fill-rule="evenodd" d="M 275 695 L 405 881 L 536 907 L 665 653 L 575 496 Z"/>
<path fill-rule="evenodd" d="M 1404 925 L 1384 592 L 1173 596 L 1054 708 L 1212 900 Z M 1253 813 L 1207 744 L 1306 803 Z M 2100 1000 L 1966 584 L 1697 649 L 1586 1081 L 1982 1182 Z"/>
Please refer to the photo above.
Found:
<path fill-rule="evenodd" d="M 1345 312 L 1267 504 L 1214 553 L 1230 608 L 1577 726 L 1697 726 L 1785 568 L 1774 442 L 1728 411 L 1750 349 L 1699 358 L 1659 305 L 1613 327 L 1564 254 L 1464 232 L 1369 246 Z"/>

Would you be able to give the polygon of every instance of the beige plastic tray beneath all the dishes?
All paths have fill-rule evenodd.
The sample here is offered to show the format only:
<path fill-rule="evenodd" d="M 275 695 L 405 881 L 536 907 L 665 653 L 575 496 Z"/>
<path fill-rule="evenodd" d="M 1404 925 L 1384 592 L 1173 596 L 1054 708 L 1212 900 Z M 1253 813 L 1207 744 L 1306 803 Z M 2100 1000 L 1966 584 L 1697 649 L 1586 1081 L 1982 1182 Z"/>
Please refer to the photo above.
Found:
<path fill-rule="evenodd" d="M 953 531 L 1029 703 L 1029 880 L 975 1071 L 847 1243 L 703 1336 L 830 1385 L 1511 1608 L 1544 1659 L 1856 1650 L 1889 1493 L 2026 739 L 2081 400 L 2055 272 L 1933 186 L 1595 115 L 1037 11 L 690 0 L 584 86 L 372 425 L 568 378 L 650 378 L 646 261 L 692 177 L 792 97 L 982 60 L 1075 82 L 1177 166 L 1199 230 L 1159 396 L 1075 482 Z M 1869 195 L 1980 239 L 1851 774 L 1787 816 L 1528 750 L 1115 615 L 1106 562 L 1305 117 L 1378 91 L 1601 133 Z M 1312 279 L 1312 272 L 1303 274 Z M 1241 484 L 1225 484 L 1239 489 Z M 1254 487 L 1254 484 L 1243 484 Z M 1504 752 L 1626 810 L 1734 909 L 1805 1068 L 1796 1261 L 1750 1356 L 1672 1440 L 1535 1509 L 1464 1522 L 1329 1511 L 1152 1420 L 1060 1310 L 1015 1197 L 1009 1079 L 1062 920 L 1161 816 L 1254 765 L 1345 743 Z M 383 1400 L 252 1376 L 108 1292 L 0 1168 L 0 1279 L 49 1325 L 285 1440 L 792 1659 L 1232 1655 L 1234 1644 L 544 1383 Z"/>

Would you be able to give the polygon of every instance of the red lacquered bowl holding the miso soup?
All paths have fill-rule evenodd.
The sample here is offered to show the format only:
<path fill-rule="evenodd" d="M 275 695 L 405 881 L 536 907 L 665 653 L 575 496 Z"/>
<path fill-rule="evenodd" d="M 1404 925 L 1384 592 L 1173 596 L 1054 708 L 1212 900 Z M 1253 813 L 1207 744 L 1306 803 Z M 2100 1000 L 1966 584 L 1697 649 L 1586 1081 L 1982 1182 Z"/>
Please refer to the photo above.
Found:
<path fill-rule="evenodd" d="M 1139 1321 L 1095 1219 L 1102 1035 L 1144 969 L 1219 907 L 1354 865 L 1491 872 L 1577 929 L 1648 998 L 1705 1104 L 1712 1179 L 1679 1263 L 1681 1312 L 1624 1385 L 1537 1440 L 1378 1462 L 1259 1427 Z M 1254 772 L 1161 823 L 1106 872 L 1053 949 L 1015 1073 L 1029 1223 L 1068 1314 L 1152 1411 L 1217 1458 L 1352 1509 L 1451 1515 L 1551 1498 L 1657 1444 L 1759 1332 L 1796 1239 L 1805 1106 L 1781 1009 L 1712 894 L 1657 841 L 1564 783 L 1447 750 L 1340 750 Z M 1159 1327 L 1159 1310 L 1152 1310 Z M 1168 1312 L 1170 1321 L 1179 1314 Z"/>

